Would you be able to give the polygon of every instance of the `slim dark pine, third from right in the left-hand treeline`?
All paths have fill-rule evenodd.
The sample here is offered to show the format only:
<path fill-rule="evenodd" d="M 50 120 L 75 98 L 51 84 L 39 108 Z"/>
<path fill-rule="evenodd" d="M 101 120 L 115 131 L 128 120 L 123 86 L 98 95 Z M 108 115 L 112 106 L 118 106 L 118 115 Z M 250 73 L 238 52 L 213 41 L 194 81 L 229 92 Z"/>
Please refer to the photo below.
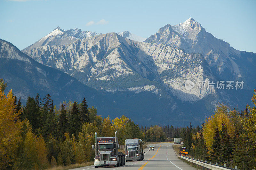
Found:
<path fill-rule="evenodd" d="M 58 130 L 60 139 L 64 139 L 64 133 L 67 130 L 67 113 L 65 106 L 62 104 L 60 108 L 59 122 L 58 122 Z"/>

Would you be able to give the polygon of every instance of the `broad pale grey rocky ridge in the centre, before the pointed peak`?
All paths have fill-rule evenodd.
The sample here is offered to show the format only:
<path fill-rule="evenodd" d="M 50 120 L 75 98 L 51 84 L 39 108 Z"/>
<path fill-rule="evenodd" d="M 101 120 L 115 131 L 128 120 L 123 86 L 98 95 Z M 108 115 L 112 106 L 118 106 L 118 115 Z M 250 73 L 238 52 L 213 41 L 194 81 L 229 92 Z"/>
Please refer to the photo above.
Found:
<path fill-rule="evenodd" d="M 136 83 L 124 87 L 120 81 L 132 78 L 139 82 L 137 79 L 142 77 L 158 80 L 182 101 L 196 101 L 214 93 L 211 88 L 195 88 L 187 92 L 184 87 L 186 79 L 198 84 L 199 81 L 214 78 L 200 54 L 188 54 L 163 44 L 132 41 L 116 33 L 87 37 L 57 47 L 41 46 L 28 50 L 27 54 L 98 90 L 137 87 Z M 183 63 L 186 65 L 180 67 Z M 188 70 L 189 74 L 186 73 Z"/>

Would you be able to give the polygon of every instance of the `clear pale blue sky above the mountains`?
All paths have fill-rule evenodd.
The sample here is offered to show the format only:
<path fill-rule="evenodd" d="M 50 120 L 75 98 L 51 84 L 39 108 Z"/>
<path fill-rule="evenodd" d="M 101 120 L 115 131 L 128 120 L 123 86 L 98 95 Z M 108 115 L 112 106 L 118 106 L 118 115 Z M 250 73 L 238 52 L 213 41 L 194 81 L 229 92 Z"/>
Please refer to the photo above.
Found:
<path fill-rule="evenodd" d="M 256 1 L 0 0 L 0 38 L 19 49 L 60 26 L 148 38 L 192 17 L 238 50 L 256 52 Z"/>

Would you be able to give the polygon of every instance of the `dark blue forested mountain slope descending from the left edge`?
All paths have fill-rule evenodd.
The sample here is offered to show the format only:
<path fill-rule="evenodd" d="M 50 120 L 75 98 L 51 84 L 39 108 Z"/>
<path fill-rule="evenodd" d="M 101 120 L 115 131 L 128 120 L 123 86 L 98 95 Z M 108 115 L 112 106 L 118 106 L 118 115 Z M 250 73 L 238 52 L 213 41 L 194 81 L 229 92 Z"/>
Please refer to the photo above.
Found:
<path fill-rule="evenodd" d="M 7 91 L 12 89 L 14 95 L 21 98 L 22 104 L 29 96 L 50 93 L 56 104 L 63 100 L 82 100 L 85 96 L 92 103 L 102 95 L 68 74 L 44 66 L 8 41 L 0 39 L 0 78 L 8 83 Z"/>

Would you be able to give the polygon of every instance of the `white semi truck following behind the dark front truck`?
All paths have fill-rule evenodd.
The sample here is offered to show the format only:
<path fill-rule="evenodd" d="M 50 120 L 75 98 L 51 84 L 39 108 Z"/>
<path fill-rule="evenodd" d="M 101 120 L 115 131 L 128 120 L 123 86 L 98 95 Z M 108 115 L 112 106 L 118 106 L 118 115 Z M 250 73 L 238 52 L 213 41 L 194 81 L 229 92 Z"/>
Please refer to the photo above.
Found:
<path fill-rule="evenodd" d="M 144 152 L 141 139 L 125 139 L 125 161 L 143 160 Z"/>

